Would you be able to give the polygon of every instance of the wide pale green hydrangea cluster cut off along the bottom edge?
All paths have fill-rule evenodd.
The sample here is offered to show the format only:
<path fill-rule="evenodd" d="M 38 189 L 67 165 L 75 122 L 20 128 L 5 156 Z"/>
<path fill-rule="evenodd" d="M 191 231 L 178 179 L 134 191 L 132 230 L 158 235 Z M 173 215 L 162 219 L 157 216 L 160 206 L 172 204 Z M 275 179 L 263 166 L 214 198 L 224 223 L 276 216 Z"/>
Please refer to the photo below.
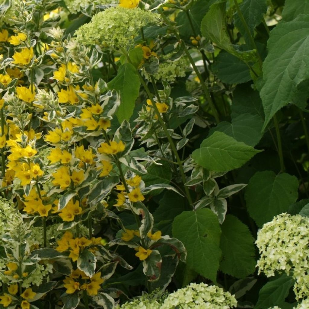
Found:
<path fill-rule="evenodd" d="M 229 292 L 206 283 L 191 283 L 171 294 L 144 294 L 132 302 L 126 302 L 116 309 L 229 309 L 237 301 Z"/>

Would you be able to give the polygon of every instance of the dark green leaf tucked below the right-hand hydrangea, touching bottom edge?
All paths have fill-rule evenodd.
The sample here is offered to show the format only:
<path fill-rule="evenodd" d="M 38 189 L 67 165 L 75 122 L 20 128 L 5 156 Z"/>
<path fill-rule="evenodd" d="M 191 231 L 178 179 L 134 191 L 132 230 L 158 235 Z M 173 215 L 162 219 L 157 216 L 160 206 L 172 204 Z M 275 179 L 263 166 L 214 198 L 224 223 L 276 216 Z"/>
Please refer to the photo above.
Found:
<path fill-rule="evenodd" d="M 254 309 L 265 309 L 280 306 L 288 296 L 294 279 L 283 273 L 278 279 L 269 281 L 260 289 L 259 299 Z"/>

